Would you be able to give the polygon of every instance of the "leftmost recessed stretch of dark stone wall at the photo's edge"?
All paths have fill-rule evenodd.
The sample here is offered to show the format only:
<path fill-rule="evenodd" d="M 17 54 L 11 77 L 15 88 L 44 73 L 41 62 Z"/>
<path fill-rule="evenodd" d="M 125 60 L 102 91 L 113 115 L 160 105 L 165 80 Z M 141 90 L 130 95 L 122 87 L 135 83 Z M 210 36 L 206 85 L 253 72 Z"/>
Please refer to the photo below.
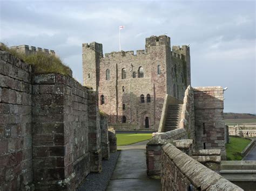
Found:
<path fill-rule="evenodd" d="M 32 183 L 31 91 L 31 67 L 0 51 L 0 190 Z"/>

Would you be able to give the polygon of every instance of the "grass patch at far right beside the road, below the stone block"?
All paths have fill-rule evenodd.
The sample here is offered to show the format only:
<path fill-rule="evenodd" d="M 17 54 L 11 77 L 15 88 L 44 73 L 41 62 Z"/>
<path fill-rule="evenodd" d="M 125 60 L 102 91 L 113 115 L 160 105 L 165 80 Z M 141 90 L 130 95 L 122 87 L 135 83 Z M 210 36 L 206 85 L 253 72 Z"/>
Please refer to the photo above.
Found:
<path fill-rule="evenodd" d="M 250 142 L 250 139 L 230 137 L 230 143 L 226 144 L 227 160 L 242 160 L 241 152 Z"/>

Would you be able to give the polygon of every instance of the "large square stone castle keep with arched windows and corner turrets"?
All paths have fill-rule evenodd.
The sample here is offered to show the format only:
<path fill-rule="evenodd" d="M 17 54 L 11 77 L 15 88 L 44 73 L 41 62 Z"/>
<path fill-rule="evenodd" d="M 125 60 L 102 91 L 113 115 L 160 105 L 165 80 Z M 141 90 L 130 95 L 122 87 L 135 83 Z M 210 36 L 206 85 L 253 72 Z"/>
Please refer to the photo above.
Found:
<path fill-rule="evenodd" d="M 191 84 L 190 47 L 170 37 L 146 38 L 145 50 L 111 52 L 83 44 L 84 85 L 99 93 L 99 109 L 116 128 L 157 130 L 166 94 L 183 100 Z"/>

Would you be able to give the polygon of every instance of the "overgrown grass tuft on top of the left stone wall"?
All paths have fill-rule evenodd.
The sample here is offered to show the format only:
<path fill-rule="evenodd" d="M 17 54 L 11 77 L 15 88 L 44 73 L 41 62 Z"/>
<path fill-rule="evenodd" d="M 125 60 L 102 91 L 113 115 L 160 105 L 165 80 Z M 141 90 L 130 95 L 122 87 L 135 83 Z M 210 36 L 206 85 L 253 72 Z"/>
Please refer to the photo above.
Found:
<path fill-rule="evenodd" d="M 24 53 L 18 52 L 16 49 L 11 49 L 5 45 L 2 45 L 1 49 L 11 53 L 29 65 L 32 65 L 34 73 L 59 73 L 63 75 L 70 74 L 71 69 L 66 66 L 60 58 L 53 54 L 37 52 L 25 55 Z"/>

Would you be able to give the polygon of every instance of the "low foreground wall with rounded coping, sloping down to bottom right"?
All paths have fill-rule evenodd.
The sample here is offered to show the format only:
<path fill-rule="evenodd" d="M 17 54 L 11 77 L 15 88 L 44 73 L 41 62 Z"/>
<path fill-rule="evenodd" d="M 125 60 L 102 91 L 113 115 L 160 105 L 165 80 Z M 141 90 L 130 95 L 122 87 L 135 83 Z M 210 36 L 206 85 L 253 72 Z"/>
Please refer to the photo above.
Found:
<path fill-rule="evenodd" d="M 242 190 L 172 144 L 162 148 L 161 190 Z"/>

